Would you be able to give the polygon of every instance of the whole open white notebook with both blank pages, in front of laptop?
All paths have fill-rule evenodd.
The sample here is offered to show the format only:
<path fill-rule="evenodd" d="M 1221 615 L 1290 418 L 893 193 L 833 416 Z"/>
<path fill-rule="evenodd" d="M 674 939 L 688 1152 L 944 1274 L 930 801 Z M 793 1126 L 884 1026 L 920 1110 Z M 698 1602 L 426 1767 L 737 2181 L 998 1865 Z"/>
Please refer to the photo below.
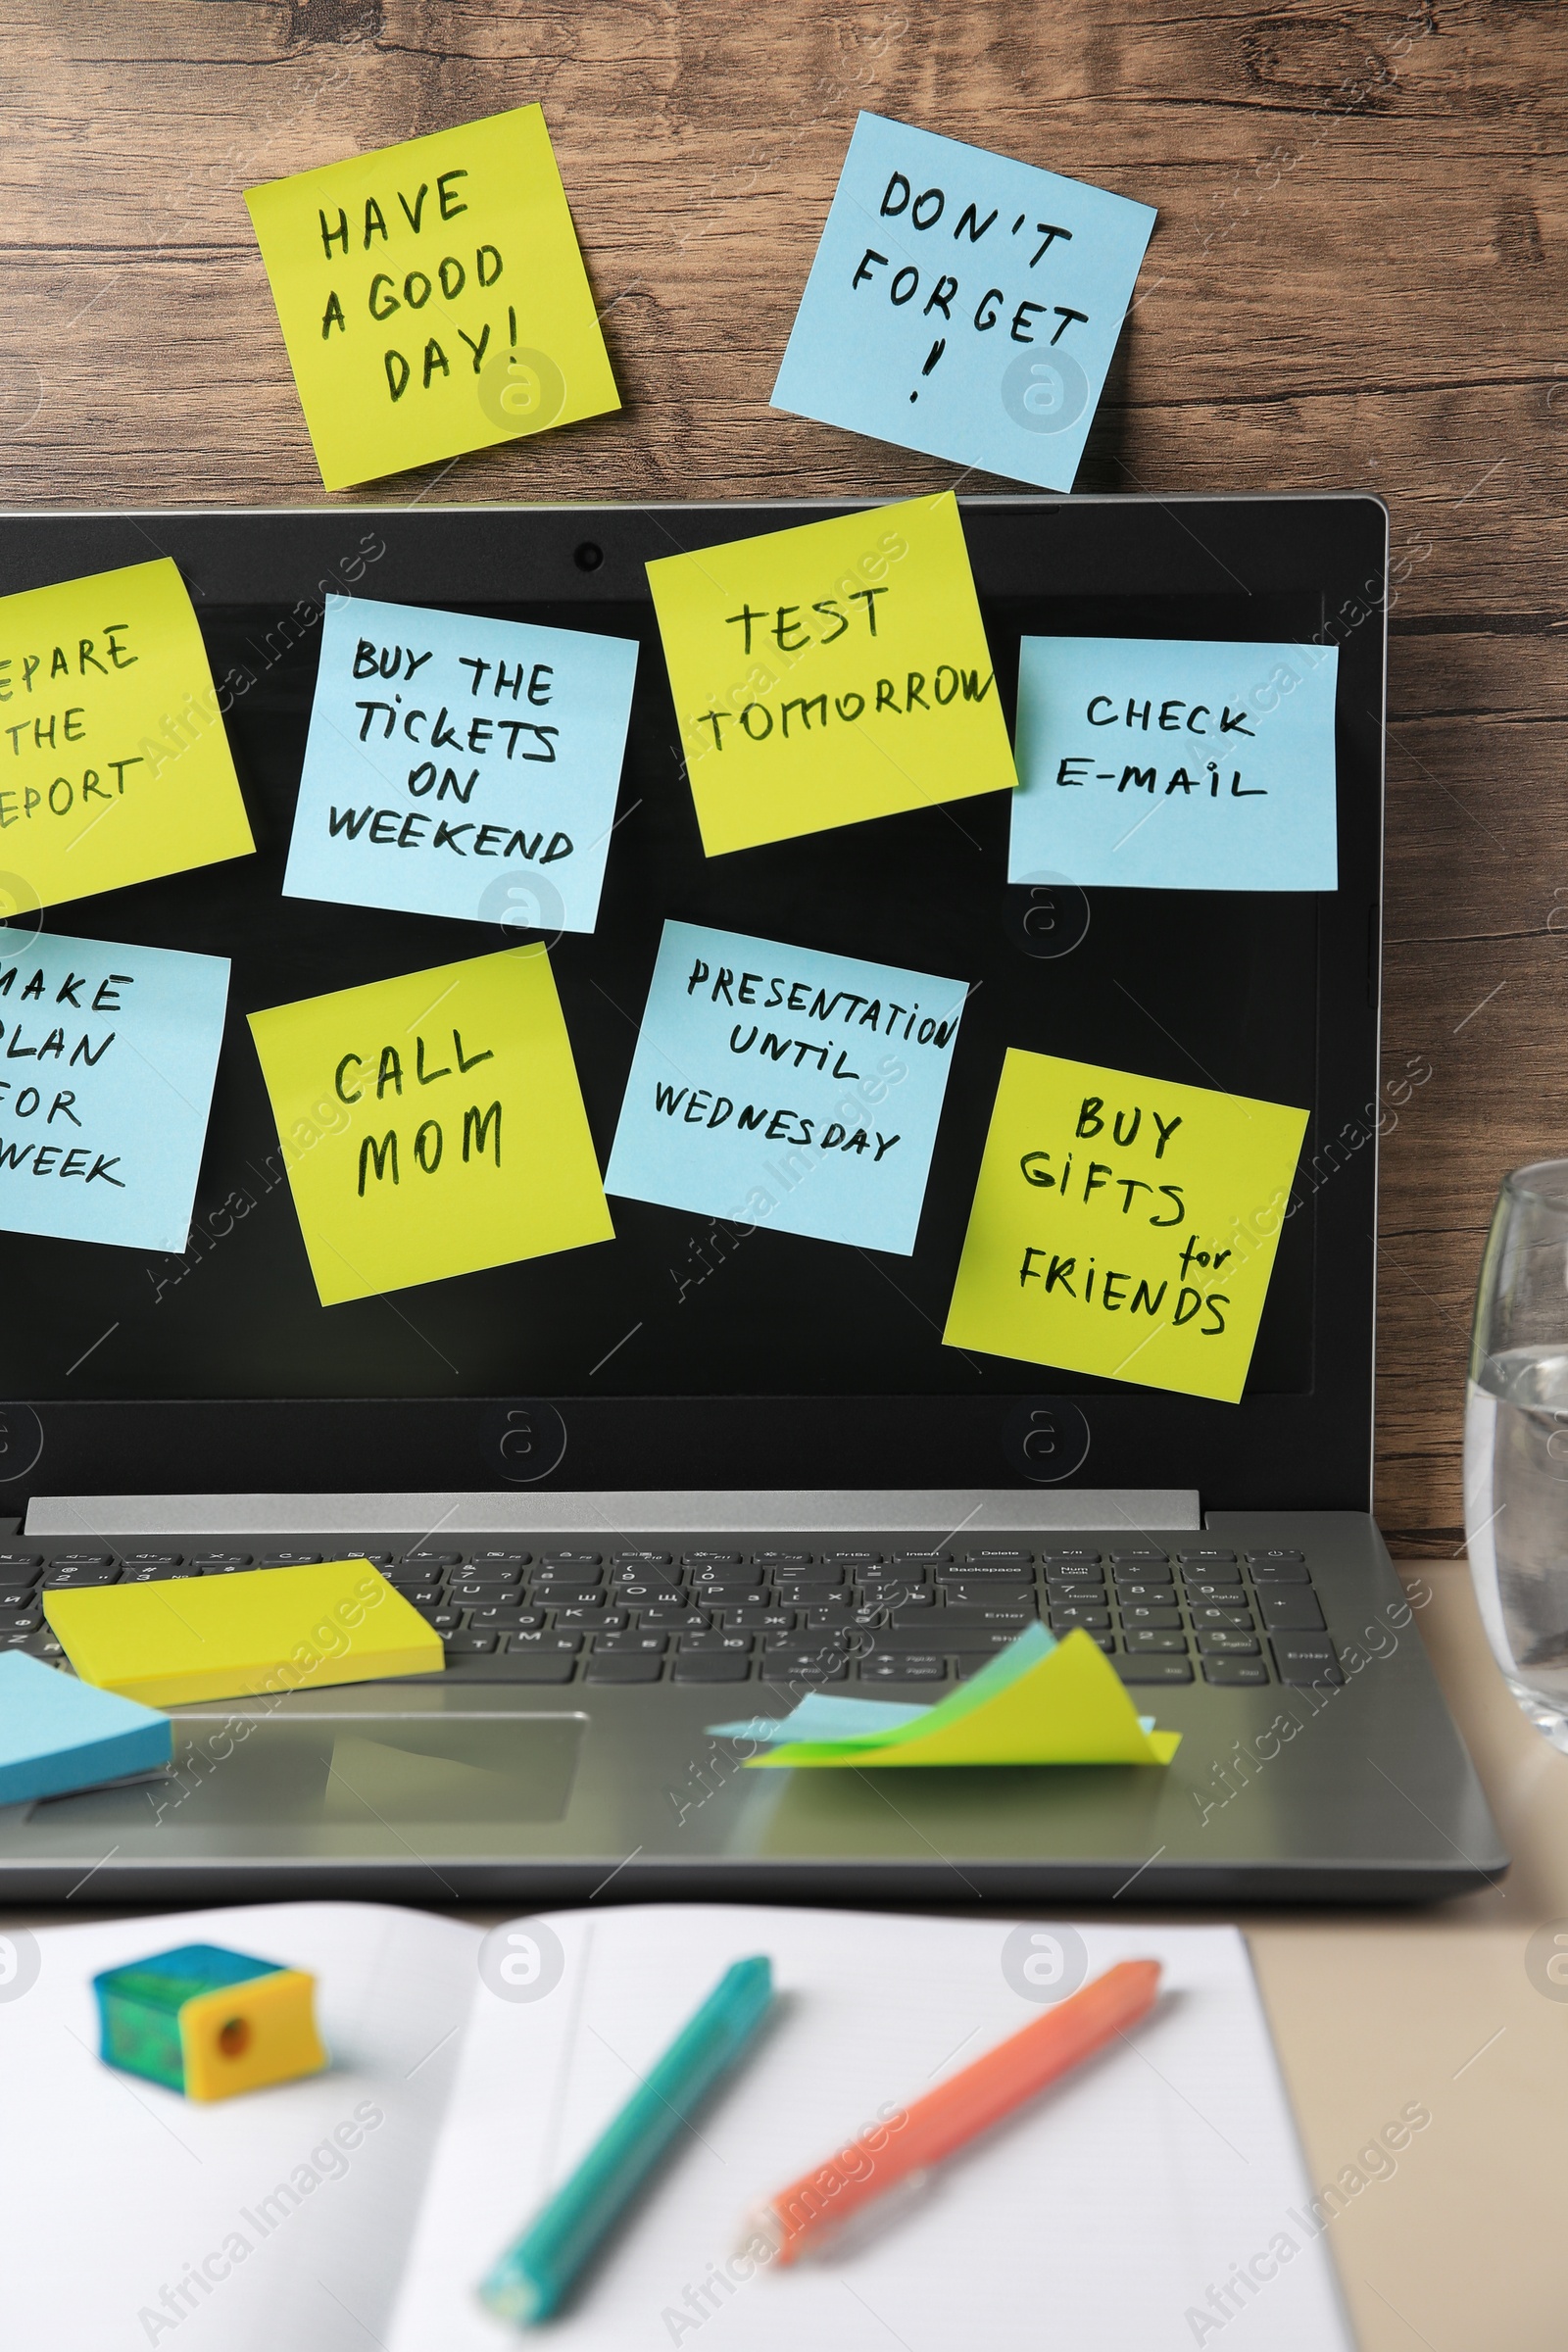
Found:
<path fill-rule="evenodd" d="M 541 2347 L 1349 2352 L 1234 1929 L 1081 1926 L 1088 1973 L 1164 1962 L 1131 2046 L 827 2258 L 762 2272 L 731 2260 L 759 2199 L 1039 2016 L 1004 1973 L 1011 1922 L 656 1905 L 545 1929 L 559 1976 L 505 1931 L 371 1903 L 40 1933 L 35 1983 L 0 1987 L 0 2343 L 505 2352 L 475 2279 L 729 1962 L 766 1952 L 776 2018 Z M 92 1976 L 200 1940 L 315 1971 L 327 2074 L 193 2105 L 99 2063 Z"/>

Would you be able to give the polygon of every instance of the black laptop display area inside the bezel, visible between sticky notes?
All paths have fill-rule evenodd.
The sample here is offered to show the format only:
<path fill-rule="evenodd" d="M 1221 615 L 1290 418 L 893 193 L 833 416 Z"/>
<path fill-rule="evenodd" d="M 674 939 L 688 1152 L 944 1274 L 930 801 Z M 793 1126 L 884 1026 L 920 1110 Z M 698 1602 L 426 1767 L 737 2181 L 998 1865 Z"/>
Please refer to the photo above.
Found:
<path fill-rule="evenodd" d="M 501 894 L 505 922 L 477 924 L 284 898 L 320 630 L 273 604 L 205 604 L 214 675 L 256 680 L 228 715 L 256 856 L 47 917 L 87 938 L 233 957 L 195 1228 L 179 1258 L 0 1237 L 0 1287 L 33 1334 L 38 1395 L 1032 1392 L 1053 1385 L 1039 1367 L 940 1338 L 1004 1049 L 1312 1103 L 1314 896 L 1009 887 L 1001 793 L 705 858 L 649 607 L 583 614 L 475 595 L 465 609 L 642 647 L 599 922 L 550 946 L 599 1164 L 665 917 L 940 971 L 971 997 L 914 1254 L 614 1200 L 609 1244 L 322 1308 L 244 1014 L 538 936 L 527 929 L 538 906 L 520 887 L 512 906 Z M 1039 597 L 990 602 L 985 621 L 1011 717 L 1020 635 L 1279 642 L 1309 637 L 1319 607 Z M 1312 1383 L 1309 1216 L 1286 1223 L 1251 1383 Z"/>

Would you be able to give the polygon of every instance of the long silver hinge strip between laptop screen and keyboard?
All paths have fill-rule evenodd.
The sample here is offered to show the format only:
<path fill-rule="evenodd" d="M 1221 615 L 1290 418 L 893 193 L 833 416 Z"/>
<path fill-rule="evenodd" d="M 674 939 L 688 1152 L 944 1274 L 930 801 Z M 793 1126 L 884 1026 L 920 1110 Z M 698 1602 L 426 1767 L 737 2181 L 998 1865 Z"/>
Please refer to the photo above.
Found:
<path fill-rule="evenodd" d="M 1201 1529 L 1192 1486 L 931 1486 L 820 1491 L 87 1494 L 35 1496 L 28 1536 L 602 1536 L 832 1529 L 992 1536 Z"/>

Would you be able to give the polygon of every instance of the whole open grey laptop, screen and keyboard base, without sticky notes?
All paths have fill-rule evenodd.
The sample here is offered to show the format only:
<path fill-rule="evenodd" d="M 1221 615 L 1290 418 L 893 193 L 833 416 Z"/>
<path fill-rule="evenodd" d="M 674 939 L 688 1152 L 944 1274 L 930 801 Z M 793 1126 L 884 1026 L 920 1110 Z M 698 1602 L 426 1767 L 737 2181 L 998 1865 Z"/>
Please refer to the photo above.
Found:
<path fill-rule="evenodd" d="M 52 1583 L 369 1557 L 440 1677 L 174 1710 L 167 1776 L 0 1813 L 7 1900 L 1427 1900 L 1507 1867 L 1371 1517 L 1387 517 L 964 501 L 1025 635 L 1338 647 L 1338 889 L 1006 882 L 1006 795 L 705 858 L 644 564 L 837 506 L 12 515 L 0 590 L 169 555 L 256 856 L 49 908 L 233 957 L 183 1256 L 0 1235 L 2 1637 Z M 280 894 L 327 595 L 639 642 L 592 934 Z M 961 974 L 912 1254 L 614 1197 L 614 1247 L 322 1308 L 244 1016 L 548 938 L 599 1167 L 665 920 Z M 1237 1404 L 943 1343 L 1009 1047 L 1307 1105 Z M 1455 1399 L 1458 1409 L 1458 1399 Z M 1084 1628 L 1168 1769 L 752 1773 L 710 1726 L 931 1700 Z"/>

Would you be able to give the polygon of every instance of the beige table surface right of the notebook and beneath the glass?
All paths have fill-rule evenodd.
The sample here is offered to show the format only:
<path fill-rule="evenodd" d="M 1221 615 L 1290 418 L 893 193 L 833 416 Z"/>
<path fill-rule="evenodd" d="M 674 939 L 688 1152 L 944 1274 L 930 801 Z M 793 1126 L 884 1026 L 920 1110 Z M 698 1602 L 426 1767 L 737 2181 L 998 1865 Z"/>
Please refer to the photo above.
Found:
<path fill-rule="evenodd" d="M 1380 2169 L 1387 2159 L 1359 2166 L 1356 2154 L 1401 2107 L 1418 2100 L 1432 2114 L 1394 2171 L 1354 2190 L 1328 2225 L 1361 2352 L 1568 2352 L 1559 2237 L 1568 1983 L 1556 1999 L 1540 1990 L 1540 1957 L 1535 1976 L 1526 1964 L 1542 1926 L 1559 1924 L 1568 1952 L 1568 1757 L 1507 1696 L 1465 1564 L 1406 1564 L 1401 1573 L 1514 1853 L 1509 1877 L 1420 1912 L 1159 1917 L 1239 1917 L 1246 1929 L 1316 2192 L 1345 2166 L 1359 2178 Z M 0 1926 L 66 1917 L 115 1915 L 0 1912 Z M 508 1912 L 461 1917 L 489 1926 Z M 1255 2251 L 1234 2249 L 1237 2260 Z M 1222 2328 L 1206 2345 L 1227 2338 Z M 1267 2347 L 1267 2305 L 1234 2340 Z"/>

